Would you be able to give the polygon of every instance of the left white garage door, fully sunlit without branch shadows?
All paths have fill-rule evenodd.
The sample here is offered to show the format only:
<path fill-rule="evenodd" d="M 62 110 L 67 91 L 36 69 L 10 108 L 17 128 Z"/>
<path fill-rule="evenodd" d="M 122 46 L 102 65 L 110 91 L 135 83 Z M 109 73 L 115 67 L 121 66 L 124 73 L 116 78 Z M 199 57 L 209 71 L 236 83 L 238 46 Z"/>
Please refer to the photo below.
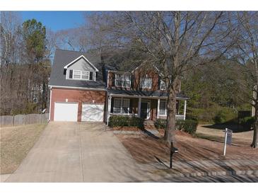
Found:
<path fill-rule="evenodd" d="M 78 103 L 54 103 L 54 120 L 77 121 Z"/>

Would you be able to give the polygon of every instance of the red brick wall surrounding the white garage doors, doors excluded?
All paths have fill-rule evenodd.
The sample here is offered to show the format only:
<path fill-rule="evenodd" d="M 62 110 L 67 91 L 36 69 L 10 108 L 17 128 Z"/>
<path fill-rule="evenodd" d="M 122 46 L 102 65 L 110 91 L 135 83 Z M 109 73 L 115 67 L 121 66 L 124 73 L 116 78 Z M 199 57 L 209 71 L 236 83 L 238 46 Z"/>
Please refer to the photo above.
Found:
<path fill-rule="evenodd" d="M 78 89 L 56 89 L 52 88 L 50 120 L 54 120 L 55 102 L 76 102 L 78 103 L 78 121 L 81 121 L 82 103 L 106 104 L 106 91 L 88 91 Z M 105 111 L 104 111 L 105 113 Z M 105 115 L 104 115 L 105 118 Z"/>

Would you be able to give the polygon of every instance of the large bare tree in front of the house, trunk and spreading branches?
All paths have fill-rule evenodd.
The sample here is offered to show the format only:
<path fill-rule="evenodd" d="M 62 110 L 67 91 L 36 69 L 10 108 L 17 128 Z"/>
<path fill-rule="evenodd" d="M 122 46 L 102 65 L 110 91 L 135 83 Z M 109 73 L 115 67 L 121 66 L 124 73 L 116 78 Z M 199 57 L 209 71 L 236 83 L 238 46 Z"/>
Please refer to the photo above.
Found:
<path fill-rule="evenodd" d="M 175 130 L 177 82 L 187 69 L 216 61 L 233 45 L 229 35 L 235 25 L 230 17 L 216 11 L 109 12 L 90 17 L 93 29 L 104 34 L 102 47 L 140 52 L 139 64 L 154 64 L 160 69 L 168 92 L 164 139 L 170 143 Z"/>

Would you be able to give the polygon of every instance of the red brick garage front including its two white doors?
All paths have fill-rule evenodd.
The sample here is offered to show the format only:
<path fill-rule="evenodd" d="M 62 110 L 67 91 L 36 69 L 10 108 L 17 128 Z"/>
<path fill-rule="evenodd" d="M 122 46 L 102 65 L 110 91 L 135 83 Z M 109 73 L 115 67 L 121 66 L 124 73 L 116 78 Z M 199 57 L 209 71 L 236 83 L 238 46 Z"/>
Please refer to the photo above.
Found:
<path fill-rule="evenodd" d="M 50 91 L 52 121 L 104 122 L 106 91 L 59 89 Z"/>

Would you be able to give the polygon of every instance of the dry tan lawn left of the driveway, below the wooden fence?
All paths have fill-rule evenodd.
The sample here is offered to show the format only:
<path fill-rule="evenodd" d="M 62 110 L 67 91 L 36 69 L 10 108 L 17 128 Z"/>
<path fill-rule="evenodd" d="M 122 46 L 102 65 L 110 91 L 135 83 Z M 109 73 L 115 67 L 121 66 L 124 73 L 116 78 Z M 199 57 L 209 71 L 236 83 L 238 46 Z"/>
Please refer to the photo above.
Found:
<path fill-rule="evenodd" d="M 13 173 L 47 124 L 0 127 L 0 173 Z"/>

